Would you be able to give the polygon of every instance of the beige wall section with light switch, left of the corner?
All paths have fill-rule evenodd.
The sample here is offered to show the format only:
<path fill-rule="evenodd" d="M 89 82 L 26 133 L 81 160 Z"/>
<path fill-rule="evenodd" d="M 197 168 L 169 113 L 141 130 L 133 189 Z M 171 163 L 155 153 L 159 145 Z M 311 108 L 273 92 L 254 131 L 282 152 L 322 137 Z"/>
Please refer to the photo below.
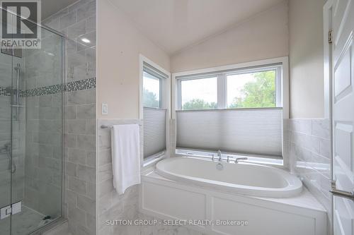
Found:
<path fill-rule="evenodd" d="M 97 6 L 97 117 L 138 119 L 139 54 L 167 71 L 169 56 L 108 0 L 97 1 Z M 108 104 L 108 115 L 102 115 L 102 103 Z"/>

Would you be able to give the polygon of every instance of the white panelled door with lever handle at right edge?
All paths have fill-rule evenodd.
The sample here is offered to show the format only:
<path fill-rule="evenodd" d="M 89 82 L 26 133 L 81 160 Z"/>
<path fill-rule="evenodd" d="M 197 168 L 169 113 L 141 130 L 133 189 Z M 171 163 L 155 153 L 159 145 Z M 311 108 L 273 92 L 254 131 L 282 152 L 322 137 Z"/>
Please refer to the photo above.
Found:
<path fill-rule="evenodd" d="M 333 231 L 354 235 L 354 0 L 332 9 Z"/>

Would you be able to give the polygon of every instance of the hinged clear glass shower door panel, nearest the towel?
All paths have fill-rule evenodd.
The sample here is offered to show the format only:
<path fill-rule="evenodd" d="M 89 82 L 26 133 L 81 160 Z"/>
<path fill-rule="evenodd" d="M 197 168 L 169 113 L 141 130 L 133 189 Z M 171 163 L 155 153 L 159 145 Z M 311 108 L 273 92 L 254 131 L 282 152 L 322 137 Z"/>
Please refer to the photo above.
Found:
<path fill-rule="evenodd" d="M 41 28 L 41 48 L 13 56 L 11 235 L 27 235 L 62 217 L 62 36 Z M 19 85 L 18 85 L 19 81 Z"/>

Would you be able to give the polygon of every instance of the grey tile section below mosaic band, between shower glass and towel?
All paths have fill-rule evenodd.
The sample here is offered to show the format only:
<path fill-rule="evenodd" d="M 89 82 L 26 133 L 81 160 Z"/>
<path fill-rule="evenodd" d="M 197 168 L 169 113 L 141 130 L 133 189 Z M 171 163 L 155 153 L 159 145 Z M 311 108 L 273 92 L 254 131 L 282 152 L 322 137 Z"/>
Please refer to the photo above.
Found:
<path fill-rule="evenodd" d="M 96 89 L 66 97 L 65 215 L 72 234 L 96 234 Z"/>

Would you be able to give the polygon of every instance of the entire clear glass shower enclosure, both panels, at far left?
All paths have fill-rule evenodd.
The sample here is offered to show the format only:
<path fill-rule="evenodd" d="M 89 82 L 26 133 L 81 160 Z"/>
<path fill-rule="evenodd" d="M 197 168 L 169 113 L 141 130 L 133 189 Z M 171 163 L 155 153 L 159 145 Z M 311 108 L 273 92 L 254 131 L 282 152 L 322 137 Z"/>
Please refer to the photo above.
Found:
<path fill-rule="evenodd" d="M 42 27 L 40 40 L 41 49 L 1 48 L 1 235 L 31 234 L 62 217 L 64 40 Z"/>

